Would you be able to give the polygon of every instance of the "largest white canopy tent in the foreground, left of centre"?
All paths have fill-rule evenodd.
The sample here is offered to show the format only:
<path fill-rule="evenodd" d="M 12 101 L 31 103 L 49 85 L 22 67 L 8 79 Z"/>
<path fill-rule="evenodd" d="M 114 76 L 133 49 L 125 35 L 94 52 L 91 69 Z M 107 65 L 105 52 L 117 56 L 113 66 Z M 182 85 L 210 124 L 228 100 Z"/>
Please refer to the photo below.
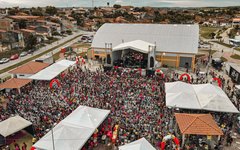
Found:
<path fill-rule="evenodd" d="M 110 110 L 79 106 L 34 147 L 38 150 L 53 150 L 53 134 L 56 150 L 81 149 L 109 113 Z"/>

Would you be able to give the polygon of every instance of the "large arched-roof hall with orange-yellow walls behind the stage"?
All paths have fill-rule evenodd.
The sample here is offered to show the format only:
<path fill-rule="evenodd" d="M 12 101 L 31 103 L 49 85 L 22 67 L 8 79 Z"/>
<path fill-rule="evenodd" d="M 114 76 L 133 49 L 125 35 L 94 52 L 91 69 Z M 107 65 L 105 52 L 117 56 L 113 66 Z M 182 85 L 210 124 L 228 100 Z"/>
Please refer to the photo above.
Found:
<path fill-rule="evenodd" d="M 141 40 L 156 46 L 155 60 L 164 65 L 194 68 L 199 26 L 171 24 L 110 24 L 99 28 L 92 42 L 92 56 L 106 57 L 122 43 Z"/>

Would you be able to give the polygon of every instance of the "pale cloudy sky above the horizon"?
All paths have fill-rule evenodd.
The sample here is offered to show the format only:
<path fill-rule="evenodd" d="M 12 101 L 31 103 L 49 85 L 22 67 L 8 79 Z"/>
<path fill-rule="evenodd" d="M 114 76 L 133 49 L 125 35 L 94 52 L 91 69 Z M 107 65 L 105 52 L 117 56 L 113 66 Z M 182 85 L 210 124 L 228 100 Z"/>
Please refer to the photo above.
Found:
<path fill-rule="evenodd" d="M 0 0 L 0 7 L 91 7 L 110 5 L 132 5 L 132 6 L 153 6 L 153 7 L 222 7 L 240 6 L 240 0 Z"/>

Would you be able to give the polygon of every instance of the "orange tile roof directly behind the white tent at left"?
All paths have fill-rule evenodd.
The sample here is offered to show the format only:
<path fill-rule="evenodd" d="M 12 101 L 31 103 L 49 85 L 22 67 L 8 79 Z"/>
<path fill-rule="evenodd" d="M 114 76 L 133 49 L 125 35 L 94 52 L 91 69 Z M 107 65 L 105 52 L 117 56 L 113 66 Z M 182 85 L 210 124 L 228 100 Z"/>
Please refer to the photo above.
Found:
<path fill-rule="evenodd" d="M 35 73 L 38 73 L 39 71 L 41 71 L 42 69 L 46 68 L 47 66 L 49 66 L 49 64 L 47 64 L 47 63 L 31 61 L 27 64 L 24 64 L 16 69 L 10 71 L 9 73 L 11 73 L 11 74 L 35 74 Z"/>

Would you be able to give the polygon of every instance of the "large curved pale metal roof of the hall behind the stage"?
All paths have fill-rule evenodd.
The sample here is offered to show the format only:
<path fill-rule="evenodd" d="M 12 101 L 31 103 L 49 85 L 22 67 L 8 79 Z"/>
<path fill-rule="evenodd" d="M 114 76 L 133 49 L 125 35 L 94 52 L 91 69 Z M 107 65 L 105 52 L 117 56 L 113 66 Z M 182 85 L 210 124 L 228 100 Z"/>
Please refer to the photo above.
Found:
<path fill-rule="evenodd" d="M 196 54 L 199 26 L 105 23 L 95 34 L 92 47 L 105 48 L 105 43 L 112 43 L 115 47 L 134 40 L 156 43 L 156 50 L 160 52 Z"/>

